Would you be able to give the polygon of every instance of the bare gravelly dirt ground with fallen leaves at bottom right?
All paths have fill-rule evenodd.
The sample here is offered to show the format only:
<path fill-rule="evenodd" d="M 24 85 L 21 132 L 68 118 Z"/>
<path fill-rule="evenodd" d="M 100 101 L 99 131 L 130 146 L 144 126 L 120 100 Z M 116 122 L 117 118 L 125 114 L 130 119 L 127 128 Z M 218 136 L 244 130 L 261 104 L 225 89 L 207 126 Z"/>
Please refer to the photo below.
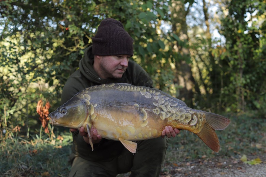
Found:
<path fill-rule="evenodd" d="M 265 177 L 266 153 L 248 156 L 248 159 L 260 158 L 262 162 L 257 165 L 243 163 L 239 159 L 199 159 L 191 162 L 166 165 L 160 177 Z"/>

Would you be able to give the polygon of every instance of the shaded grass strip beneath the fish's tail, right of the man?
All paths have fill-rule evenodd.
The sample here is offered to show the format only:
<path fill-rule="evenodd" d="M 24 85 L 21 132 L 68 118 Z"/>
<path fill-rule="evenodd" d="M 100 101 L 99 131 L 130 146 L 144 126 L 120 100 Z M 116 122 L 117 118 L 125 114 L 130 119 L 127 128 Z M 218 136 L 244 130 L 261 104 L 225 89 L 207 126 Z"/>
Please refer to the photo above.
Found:
<path fill-rule="evenodd" d="M 178 163 L 199 158 L 241 158 L 246 155 L 266 153 L 266 119 L 255 114 L 225 115 L 231 120 L 229 126 L 216 131 L 220 140 L 220 151 L 215 153 L 197 135 L 181 131 L 176 138 L 169 139 L 165 163 Z"/>

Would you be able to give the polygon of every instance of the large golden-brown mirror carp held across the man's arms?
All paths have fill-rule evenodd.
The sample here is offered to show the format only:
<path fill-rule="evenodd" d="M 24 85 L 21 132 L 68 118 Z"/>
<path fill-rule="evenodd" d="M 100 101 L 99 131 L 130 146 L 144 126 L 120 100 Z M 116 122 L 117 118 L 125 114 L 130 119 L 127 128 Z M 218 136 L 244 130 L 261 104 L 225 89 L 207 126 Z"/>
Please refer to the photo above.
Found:
<path fill-rule="evenodd" d="M 160 137 L 169 125 L 193 132 L 218 153 L 220 142 L 215 130 L 224 130 L 230 123 L 221 115 L 192 109 L 159 89 L 127 83 L 88 87 L 48 118 L 53 125 L 84 127 L 85 132 L 93 126 L 102 138 L 120 141 L 132 153 L 137 149 L 134 141 Z M 88 137 L 93 150 L 90 133 Z"/>

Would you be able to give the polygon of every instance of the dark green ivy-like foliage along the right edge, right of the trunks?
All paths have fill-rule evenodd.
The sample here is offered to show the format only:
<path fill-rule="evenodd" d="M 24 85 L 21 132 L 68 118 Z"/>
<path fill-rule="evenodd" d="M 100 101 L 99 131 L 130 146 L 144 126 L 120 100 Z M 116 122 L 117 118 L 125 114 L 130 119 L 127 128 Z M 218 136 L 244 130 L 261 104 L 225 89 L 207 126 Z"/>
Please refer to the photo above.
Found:
<path fill-rule="evenodd" d="M 244 111 L 248 107 L 265 114 L 265 3 L 231 1 L 227 8 L 221 30 L 226 37 L 226 52 L 220 56 L 222 97 L 230 106 L 229 111 Z"/>

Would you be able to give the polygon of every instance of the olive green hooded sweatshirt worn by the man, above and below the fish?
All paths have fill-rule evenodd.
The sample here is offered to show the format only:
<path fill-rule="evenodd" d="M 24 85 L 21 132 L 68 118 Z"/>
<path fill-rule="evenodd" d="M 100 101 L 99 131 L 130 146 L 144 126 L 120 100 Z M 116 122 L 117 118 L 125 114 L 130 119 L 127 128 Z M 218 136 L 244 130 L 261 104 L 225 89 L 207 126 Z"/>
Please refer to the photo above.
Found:
<path fill-rule="evenodd" d="M 152 80 L 147 72 L 136 62 L 129 60 L 128 67 L 121 79 L 102 79 L 93 69 L 94 55 L 91 53 L 92 46 L 85 50 L 83 58 L 80 60 L 79 69 L 75 71 L 67 80 L 62 96 L 61 104 L 64 104 L 79 91 L 99 84 L 105 83 L 129 83 L 135 86 L 152 87 Z M 87 144 L 79 131 L 73 132 L 72 152 L 86 160 L 104 160 L 119 155 L 124 146 L 119 141 L 102 139 L 100 143 L 94 145 L 94 150 Z"/>

